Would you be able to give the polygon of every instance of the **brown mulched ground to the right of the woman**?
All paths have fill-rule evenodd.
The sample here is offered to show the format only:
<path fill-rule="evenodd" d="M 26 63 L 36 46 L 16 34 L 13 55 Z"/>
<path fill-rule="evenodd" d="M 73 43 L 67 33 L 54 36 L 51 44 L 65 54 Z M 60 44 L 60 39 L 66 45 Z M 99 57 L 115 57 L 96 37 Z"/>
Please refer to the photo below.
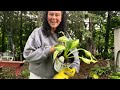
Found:
<path fill-rule="evenodd" d="M 84 62 L 81 62 L 80 72 L 76 73 L 75 76 L 72 77 L 71 79 L 91 79 L 90 71 L 95 65 L 99 65 L 100 67 L 110 66 L 113 65 L 113 60 L 111 60 L 110 63 L 108 62 L 108 60 L 99 60 L 95 64 L 94 63 L 86 64 Z M 100 79 L 108 79 L 108 77 L 101 76 Z"/>

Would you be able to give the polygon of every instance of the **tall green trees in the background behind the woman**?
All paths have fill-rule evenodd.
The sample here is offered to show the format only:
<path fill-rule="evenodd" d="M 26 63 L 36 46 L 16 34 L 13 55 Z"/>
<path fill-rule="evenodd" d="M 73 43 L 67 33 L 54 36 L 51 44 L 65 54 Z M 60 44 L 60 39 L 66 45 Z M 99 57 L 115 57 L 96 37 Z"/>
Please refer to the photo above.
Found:
<path fill-rule="evenodd" d="M 112 59 L 114 28 L 120 25 L 119 11 L 67 11 L 68 32 L 80 47 L 97 58 Z M 0 52 L 12 51 L 20 58 L 31 32 L 42 25 L 43 11 L 0 11 Z"/>

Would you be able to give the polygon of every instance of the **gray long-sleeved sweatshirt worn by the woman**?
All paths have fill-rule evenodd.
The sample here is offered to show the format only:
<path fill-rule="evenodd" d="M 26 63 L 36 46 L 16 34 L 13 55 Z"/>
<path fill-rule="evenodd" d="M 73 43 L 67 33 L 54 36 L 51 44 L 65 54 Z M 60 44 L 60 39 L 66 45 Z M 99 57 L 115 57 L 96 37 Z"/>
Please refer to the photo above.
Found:
<path fill-rule="evenodd" d="M 42 32 L 42 27 L 36 28 L 29 36 L 24 47 L 23 56 L 29 62 L 30 72 L 42 77 L 52 78 L 57 72 L 54 70 L 50 47 L 57 44 L 57 35 L 47 37 Z M 74 54 L 77 57 L 77 53 Z M 71 64 L 79 72 L 80 60 L 76 58 Z"/>

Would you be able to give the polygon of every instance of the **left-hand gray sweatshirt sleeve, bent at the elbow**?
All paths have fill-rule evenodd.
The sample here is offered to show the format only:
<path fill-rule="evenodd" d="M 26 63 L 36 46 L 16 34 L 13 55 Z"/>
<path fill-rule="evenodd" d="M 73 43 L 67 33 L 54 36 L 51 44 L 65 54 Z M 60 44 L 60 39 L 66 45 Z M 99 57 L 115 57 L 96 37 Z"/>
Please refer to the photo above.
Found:
<path fill-rule="evenodd" d="M 41 45 L 38 45 L 35 40 L 35 32 L 33 31 L 24 47 L 23 57 L 27 62 L 40 63 L 45 60 L 50 54 L 50 46 L 42 47 Z"/>

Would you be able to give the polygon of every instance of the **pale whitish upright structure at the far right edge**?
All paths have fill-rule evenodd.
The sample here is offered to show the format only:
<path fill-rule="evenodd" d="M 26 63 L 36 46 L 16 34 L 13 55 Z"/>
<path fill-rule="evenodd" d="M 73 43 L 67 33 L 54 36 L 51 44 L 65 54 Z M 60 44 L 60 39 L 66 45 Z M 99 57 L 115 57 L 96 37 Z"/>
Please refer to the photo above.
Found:
<path fill-rule="evenodd" d="M 114 63 L 117 64 L 118 68 L 117 71 L 120 71 L 120 28 L 114 30 Z M 117 59 L 118 54 L 118 59 Z"/>

